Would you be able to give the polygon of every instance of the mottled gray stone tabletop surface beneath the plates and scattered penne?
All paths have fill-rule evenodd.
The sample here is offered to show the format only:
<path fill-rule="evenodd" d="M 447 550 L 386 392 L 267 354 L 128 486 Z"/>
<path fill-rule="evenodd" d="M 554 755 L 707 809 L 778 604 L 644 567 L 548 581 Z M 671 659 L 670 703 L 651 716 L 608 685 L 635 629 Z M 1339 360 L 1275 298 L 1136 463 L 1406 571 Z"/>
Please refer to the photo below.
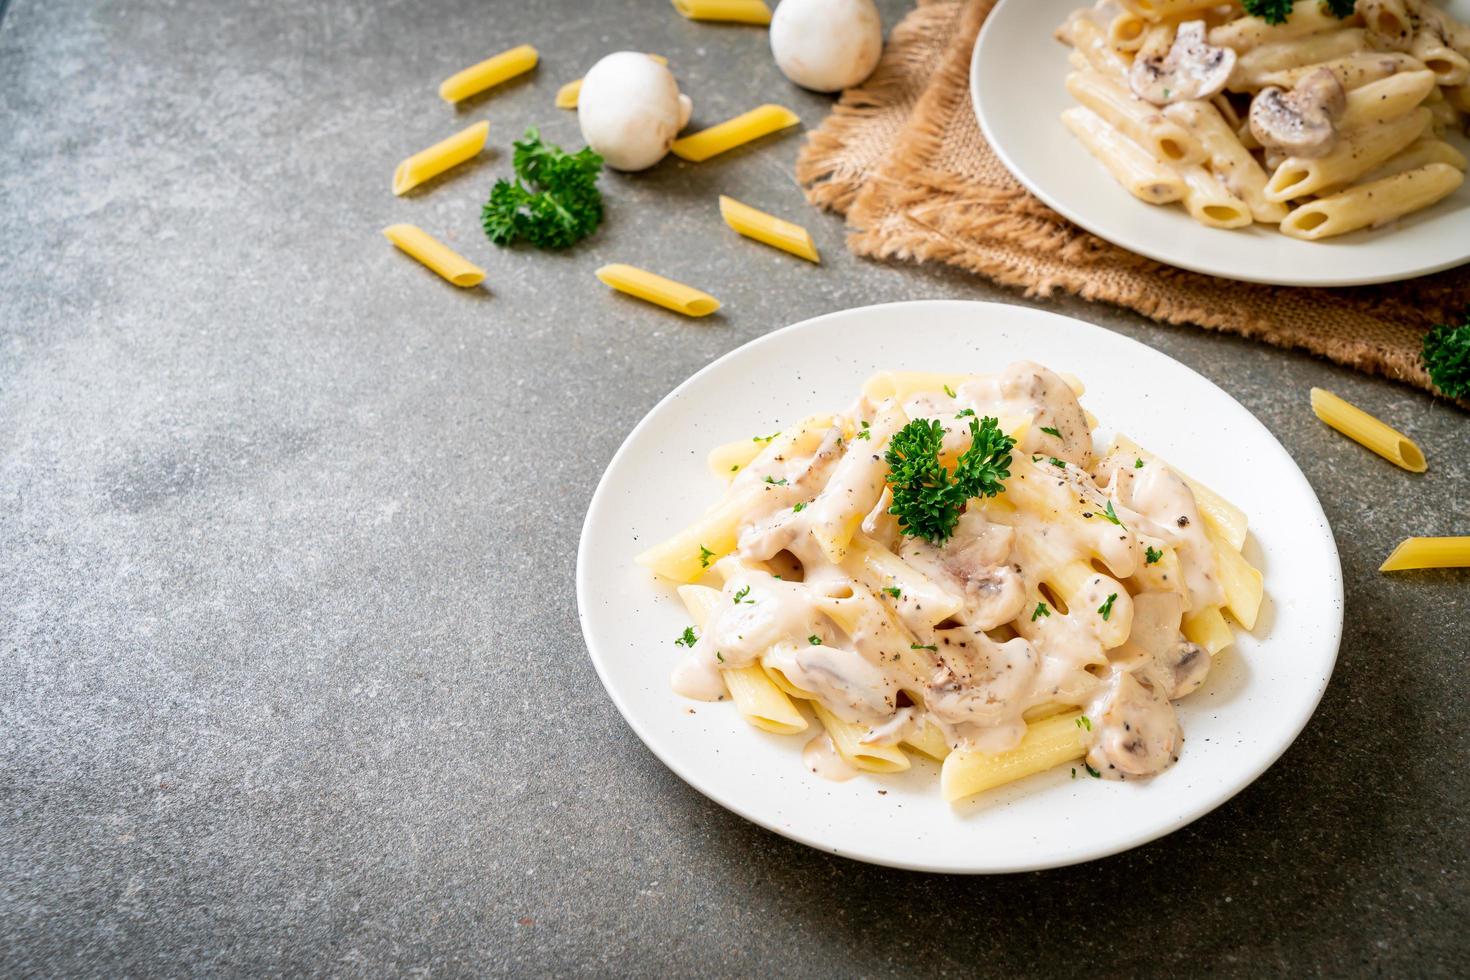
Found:
<path fill-rule="evenodd" d="M 883 3 L 889 25 L 897 0 Z M 525 82 L 445 73 L 520 41 Z M 800 137 L 609 176 L 567 254 L 478 203 L 556 87 L 667 54 L 714 120 L 816 125 L 759 29 L 663 0 L 15 0 L 0 25 L 0 974 L 1463 973 L 1463 573 L 1380 576 L 1466 532 L 1466 416 L 1304 356 L 1050 309 L 1144 339 L 1255 411 L 1342 548 L 1348 623 L 1286 757 L 1191 827 L 1001 879 L 864 867 L 714 807 L 587 660 L 575 542 L 632 425 L 713 357 L 878 301 L 1020 303 L 842 250 Z M 488 118 L 495 151 L 397 200 L 394 163 Z M 717 223 L 800 215 L 813 267 Z M 456 291 L 378 234 L 481 260 Z M 591 270 L 706 284 L 691 322 Z M 1402 422 L 1407 476 L 1317 425 L 1327 385 Z M 1289 651 L 1288 651 L 1289 654 Z"/>

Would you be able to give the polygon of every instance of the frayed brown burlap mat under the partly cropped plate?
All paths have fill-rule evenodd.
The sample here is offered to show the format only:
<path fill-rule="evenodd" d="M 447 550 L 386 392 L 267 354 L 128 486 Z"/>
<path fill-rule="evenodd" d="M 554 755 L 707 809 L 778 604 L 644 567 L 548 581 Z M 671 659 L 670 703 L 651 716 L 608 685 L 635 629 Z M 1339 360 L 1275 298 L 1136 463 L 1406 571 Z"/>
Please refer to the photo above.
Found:
<path fill-rule="evenodd" d="M 1247 285 L 1135 256 L 1032 197 L 985 143 L 970 107 L 970 51 L 992 6 L 920 0 L 894 28 L 878 71 L 811 132 L 797 178 L 811 203 L 847 216 L 854 253 L 945 262 L 1032 297 L 1061 289 L 1433 389 L 1420 363 L 1423 334 L 1470 306 L 1470 267 L 1345 289 Z"/>

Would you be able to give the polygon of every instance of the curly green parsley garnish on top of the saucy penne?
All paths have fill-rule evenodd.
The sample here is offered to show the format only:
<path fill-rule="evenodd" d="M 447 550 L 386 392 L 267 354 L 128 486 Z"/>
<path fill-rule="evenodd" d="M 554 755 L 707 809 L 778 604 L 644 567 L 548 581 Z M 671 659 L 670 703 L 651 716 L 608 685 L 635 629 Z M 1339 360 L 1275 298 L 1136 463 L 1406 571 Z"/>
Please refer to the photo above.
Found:
<path fill-rule="evenodd" d="M 936 545 L 954 533 L 966 501 L 1004 492 L 1016 445 L 1000 430 L 998 420 L 970 419 L 970 448 L 960 454 L 951 475 L 939 463 L 945 432 L 938 419 L 914 419 L 894 435 L 885 454 L 894 491 L 888 513 L 898 517 L 901 533 Z"/>

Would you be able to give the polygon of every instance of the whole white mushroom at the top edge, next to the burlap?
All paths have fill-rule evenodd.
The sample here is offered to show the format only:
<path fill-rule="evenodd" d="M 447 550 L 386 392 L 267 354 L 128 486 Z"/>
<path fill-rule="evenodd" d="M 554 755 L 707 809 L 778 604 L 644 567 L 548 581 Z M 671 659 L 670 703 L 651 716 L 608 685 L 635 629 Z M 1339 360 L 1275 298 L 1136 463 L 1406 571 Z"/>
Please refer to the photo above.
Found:
<path fill-rule="evenodd" d="M 878 66 L 883 22 L 873 0 L 782 0 L 770 18 L 770 53 L 803 88 L 841 91 Z"/>

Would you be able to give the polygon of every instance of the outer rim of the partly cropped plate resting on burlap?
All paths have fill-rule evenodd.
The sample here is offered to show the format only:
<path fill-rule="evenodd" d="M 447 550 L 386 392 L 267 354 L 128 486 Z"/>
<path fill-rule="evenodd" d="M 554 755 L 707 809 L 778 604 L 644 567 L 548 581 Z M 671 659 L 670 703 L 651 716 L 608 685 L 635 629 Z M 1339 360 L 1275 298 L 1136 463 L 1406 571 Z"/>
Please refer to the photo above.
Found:
<path fill-rule="evenodd" d="M 980 135 L 985 137 L 985 143 L 989 144 L 989 147 L 995 153 L 997 159 L 1000 159 L 1001 166 L 1004 166 L 1005 170 L 1013 178 L 1016 178 L 1017 181 L 1020 181 L 1020 184 L 1028 191 L 1030 191 L 1038 198 L 1041 198 L 1041 201 L 1047 207 L 1053 209 L 1054 212 L 1057 212 L 1058 215 L 1061 215 L 1063 217 L 1066 217 L 1069 222 L 1078 225 L 1083 231 L 1086 231 L 1086 232 L 1089 232 L 1092 235 L 1097 235 L 1098 238 L 1107 241 L 1111 245 L 1116 245 L 1117 248 L 1122 248 L 1125 251 L 1130 251 L 1130 253 L 1138 254 L 1138 256 L 1144 256 L 1145 259 L 1152 259 L 1154 262 L 1163 263 L 1163 264 L 1170 266 L 1173 269 L 1185 269 L 1188 272 L 1195 272 L 1195 273 L 1200 273 L 1200 275 L 1213 276 L 1216 279 L 1229 279 L 1229 281 L 1233 281 L 1233 282 L 1251 282 L 1251 284 L 1257 284 L 1257 285 L 1270 285 L 1270 287 L 1295 287 L 1295 288 L 1305 288 L 1305 289 L 1330 289 L 1330 288 L 1341 288 L 1341 287 L 1382 285 L 1382 284 L 1386 284 L 1386 282 L 1413 282 L 1414 279 L 1420 279 L 1423 276 L 1430 276 L 1430 275 L 1435 275 L 1436 272 L 1445 272 L 1446 269 L 1455 269 L 1458 266 L 1470 264 L 1470 251 L 1466 251 L 1466 254 L 1463 254 L 1463 256 L 1457 256 L 1457 257 L 1448 259 L 1448 260 L 1445 260 L 1442 263 L 1432 263 L 1429 266 L 1421 266 L 1421 267 L 1414 269 L 1413 272 L 1386 272 L 1386 273 L 1363 272 L 1363 273 L 1347 275 L 1347 276 L 1319 275 L 1319 276 L 1308 276 L 1308 278 L 1279 278 L 1279 276 L 1252 275 L 1252 273 L 1244 273 L 1244 272 L 1222 272 L 1219 267 L 1210 267 L 1208 264 L 1201 263 L 1201 262 L 1189 262 L 1189 260 L 1180 262 L 1177 257 L 1172 257 L 1172 256 L 1166 254 L 1163 250 L 1152 248 L 1147 242 L 1144 242 L 1141 245 L 1135 244 L 1135 242 L 1123 244 L 1122 241 L 1119 241 L 1117 238 L 1114 238 L 1114 235 L 1110 234 L 1101 222 L 1095 222 L 1089 216 L 1086 216 L 1085 213 L 1082 213 L 1082 212 L 1073 209 L 1072 206 L 1066 204 L 1064 201 L 1061 201 L 1060 198 L 1057 198 L 1055 195 L 1053 195 L 1044 185 L 1041 185 L 1039 182 L 1036 182 L 1035 179 L 1032 179 L 1030 176 L 1028 176 L 1026 172 L 1023 170 L 1023 167 L 1017 166 L 1016 162 L 1014 162 L 1014 159 L 1011 157 L 1011 154 L 1005 151 L 1004 144 L 1000 140 L 995 138 L 995 132 L 992 131 L 991 125 L 986 122 L 985 112 L 980 109 L 980 106 L 983 103 L 983 98 L 980 97 L 980 84 L 979 84 L 980 53 L 985 50 L 986 38 L 991 35 L 994 25 L 998 24 L 997 15 L 1001 10 L 1004 10 L 1004 9 L 1007 9 L 1007 7 L 1013 6 L 1013 4 L 1019 6 L 1020 3 L 1030 3 L 1030 1 L 1033 1 L 1033 0 L 997 0 L 995 6 L 991 7 L 991 12 L 985 16 L 985 24 L 980 25 L 980 32 L 975 38 L 975 47 L 970 51 L 970 68 L 969 68 L 969 79 L 967 79 L 969 81 L 967 87 L 970 90 L 970 112 L 975 113 L 975 120 L 980 126 Z M 1080 4 L 1080 0 L 1078 0 L 1078 3 Z M 1060 79 L 1058 79 L 1058 84 L 1060 84 Z M 1142 206 L 1144 201 L 1138 201 L 1138 204 Z M 1204 226 L 1201 225 L 1200 228 L 1204 228 Z M 1214 231 L 1214 232 L 1222 232 L 1223 234 L 1223 229 L 1208 229 L 1208 231 Z"/>

